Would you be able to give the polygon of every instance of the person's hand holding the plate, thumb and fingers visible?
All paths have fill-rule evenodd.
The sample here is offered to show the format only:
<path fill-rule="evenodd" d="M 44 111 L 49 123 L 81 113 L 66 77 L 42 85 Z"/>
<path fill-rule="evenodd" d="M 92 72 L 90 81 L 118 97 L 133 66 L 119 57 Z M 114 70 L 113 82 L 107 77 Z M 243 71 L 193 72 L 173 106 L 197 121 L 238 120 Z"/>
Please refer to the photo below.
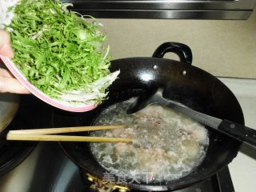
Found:
<path fill-rule="evenodd" d="M 0 30 L 0 54 L 14 58 L 14 51 L 10 46 L 10 34 Z M 8 70 L 0 68 L 0 93 L 30 94 L 28 90 Z"/>

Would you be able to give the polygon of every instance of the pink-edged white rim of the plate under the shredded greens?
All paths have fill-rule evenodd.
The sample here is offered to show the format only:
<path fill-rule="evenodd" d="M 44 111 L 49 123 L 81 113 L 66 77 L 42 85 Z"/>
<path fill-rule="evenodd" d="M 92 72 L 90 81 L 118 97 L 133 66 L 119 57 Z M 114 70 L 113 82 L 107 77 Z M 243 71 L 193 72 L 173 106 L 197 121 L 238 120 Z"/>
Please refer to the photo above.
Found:
<path fill-rule="evenodd" d="M 37 98 L 40 98 L 43 102 L 55 106 L 62 110 L 67 110 L 71 112 L 86 112 L 88 110 L 93 110 L 97 105 L 96 104 L 87 104 L 87 103 L 71 103 L 71 102 L 62 102 L 58 101 L 55 98 L 50 98 L 48 95 L 44 94 L 41 90 L 38 90 L 34 85 L 32 85 L 26 77 L 18 70 L 17 66 L 10 60 L 10 58 L 0 55 L 2 62 L 4 62 L 10 72 L 30 91 L 31 94 L 34 94 Z"/>

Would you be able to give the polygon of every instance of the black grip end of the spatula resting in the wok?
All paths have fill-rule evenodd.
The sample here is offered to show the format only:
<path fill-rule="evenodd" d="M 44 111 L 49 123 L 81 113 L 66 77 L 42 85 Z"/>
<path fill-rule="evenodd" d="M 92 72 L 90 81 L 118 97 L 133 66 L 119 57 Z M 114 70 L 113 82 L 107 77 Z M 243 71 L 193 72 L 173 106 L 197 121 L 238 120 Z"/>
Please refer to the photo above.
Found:
<path fill-rule="evenodd" d="M 245 142 L 246 144 L 256 148 L 256 130 L 250 127 L 223 120 L 218 126 L 218 130 L 229 134 L 233 138 L 238 139 L 240 142 Z"/>

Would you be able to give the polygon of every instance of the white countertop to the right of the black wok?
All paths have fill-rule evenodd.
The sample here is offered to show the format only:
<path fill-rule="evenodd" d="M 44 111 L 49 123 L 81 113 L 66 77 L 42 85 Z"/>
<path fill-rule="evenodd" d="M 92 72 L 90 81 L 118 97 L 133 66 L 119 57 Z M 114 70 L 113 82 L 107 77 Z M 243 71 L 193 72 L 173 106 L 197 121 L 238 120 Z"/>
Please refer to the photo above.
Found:
<path fill-rule="evenodd" d="M 242 106 L 245 124 L 256 128 L 256 80 L 241 78 L 219 78 L 232 90 Z M 236 192 L 256 191 L 256 150 L 242 146 L 238 156 L 229 165 Z"/>

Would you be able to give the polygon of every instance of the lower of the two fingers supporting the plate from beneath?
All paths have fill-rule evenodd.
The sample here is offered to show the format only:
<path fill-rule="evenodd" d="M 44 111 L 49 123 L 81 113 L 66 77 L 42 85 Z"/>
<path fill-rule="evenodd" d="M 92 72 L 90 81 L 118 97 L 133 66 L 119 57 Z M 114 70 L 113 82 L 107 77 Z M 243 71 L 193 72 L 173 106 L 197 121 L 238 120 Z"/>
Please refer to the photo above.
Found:
<path fill-rule="evenodd" d="M 30 94 L 16 78 L 0 76 L 0 93 Z"/>

